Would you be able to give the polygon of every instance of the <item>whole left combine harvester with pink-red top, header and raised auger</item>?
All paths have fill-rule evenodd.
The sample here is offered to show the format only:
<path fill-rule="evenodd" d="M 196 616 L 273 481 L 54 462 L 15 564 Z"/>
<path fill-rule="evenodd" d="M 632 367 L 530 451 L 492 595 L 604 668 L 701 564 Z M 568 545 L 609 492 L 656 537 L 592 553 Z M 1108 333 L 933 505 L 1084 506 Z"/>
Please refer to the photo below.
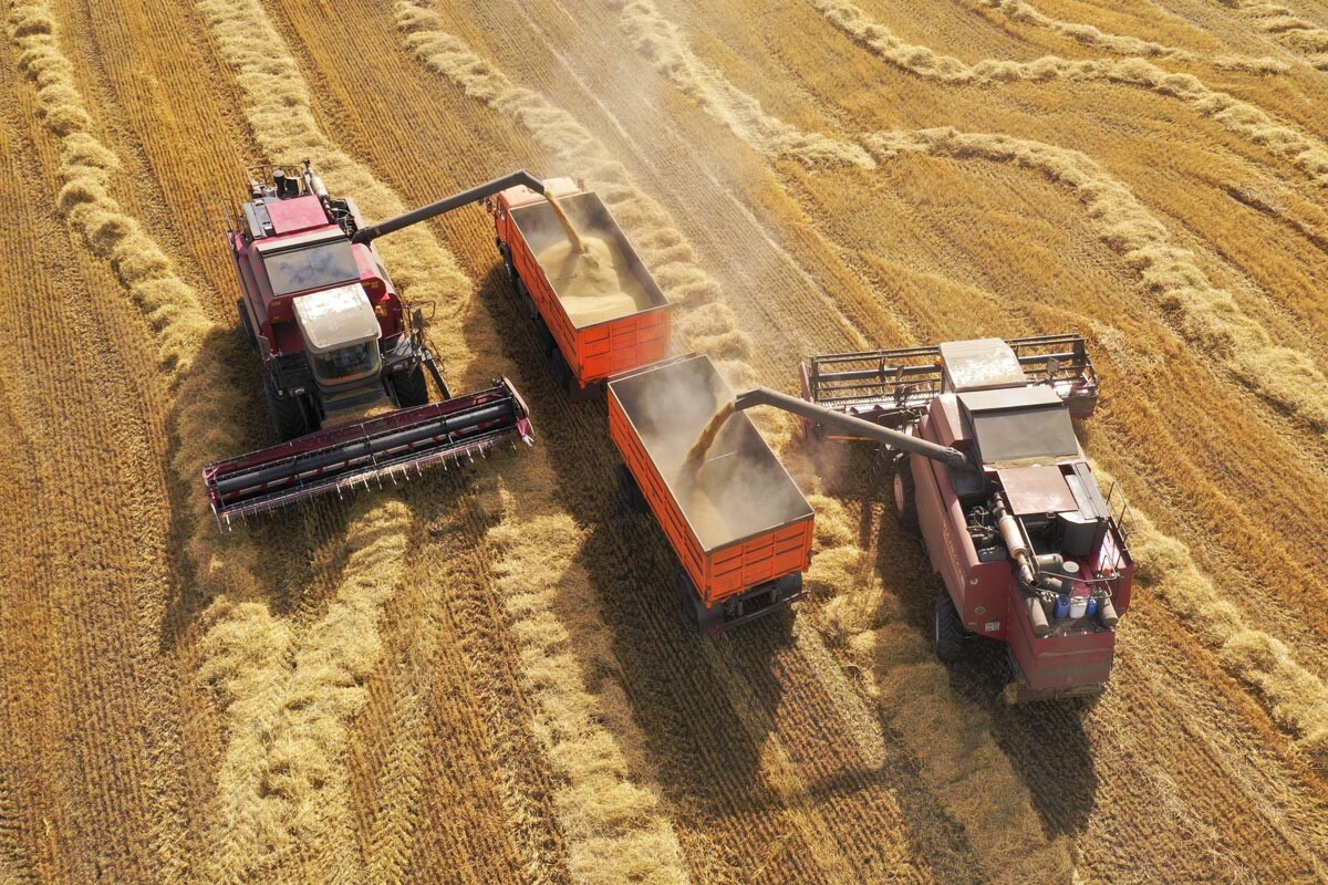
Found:
<path fill-rule="evenodd" d="M 537 192 L 543 184 L 513 172 L 367 227 L 352 200 L 328 195 L 308 161 L 293 174 L 263 174 L 240 211 L 224 212 L 244 296 L 240 324 L 262 358 L 282 442 L 203 468 L 218 521 L 531 443 L 526 403 L 506 378 L 452 395 L 422 312 L 402 304 L 373 240 L 517 184 Z M 429 402 L 426 372 L 440 402 Z"/>

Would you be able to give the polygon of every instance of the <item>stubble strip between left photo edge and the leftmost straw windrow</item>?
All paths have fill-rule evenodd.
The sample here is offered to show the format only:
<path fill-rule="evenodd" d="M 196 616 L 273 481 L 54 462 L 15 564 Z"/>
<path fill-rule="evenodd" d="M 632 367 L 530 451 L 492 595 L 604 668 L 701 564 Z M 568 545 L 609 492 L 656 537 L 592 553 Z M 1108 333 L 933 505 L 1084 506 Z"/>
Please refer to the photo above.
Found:
<path fill-rule="evenodd" d="M 0 66 L 13 58 L 12 46 L 0 50 Z M 11 247 L 28 259 L 0 280 L 12 296 L 0 325 L 15 336 L 0 345 L 0 387 L 21 403 L 16 419 L 28 429 L 4 438 L 29 470 L 0 480 L 13 491 L 7 512 L 17 517 L 0 527 L 16 540 L 0 585 L 17 594 L 40 586 L 42 604 L 33 608 L 21 596 L 0 602 L 12 616 L 0 633 L 13 638 L 13 663 L 0 670 L 13 679 L 8 691 L 17 693 L 0 734 L 11 736 L 16 768 L 32 764 L 24 756 L 41 758 L 31 772 L 37 776 L 17 782 L 29 821 L 39 815 L 60 821 L 60 805 L 77 808 L 78 835 L 56 827 L 73 843 L 97 844 L 97 862 L 126 877 L 130 869 L 178 877 L 187 809 L 177 677 L 158 645 L 173 557 L 155 433 L 166 407 L 142 386 L 157 383 L 150 329 L 127 299 L 108 297 L 120 283 L 61 219 L 54 188 L 45 184 L 58 146 L 40 150 L 33 138 L 45 131 L 35 119 L 36 131 L 20 131 L 20 115 L 31 106 L 24 82 L 9 85 L 0 122 L 0 153 L 9 165 L 0 200 L 11 207 Z M 33 184 L 40 190 L 33 192 Z M 93 271 L 90 279 L 82 268 Z M 145 329 L 145 348 L 117 340 Z M 62 358 L 53 362 L 53 353 Z M 142 364 L 146 372 L 135 377 Z M 45 490 L 31 504 L 24 503 L 29 483 Z M 76 746 L 60 736 L 72 715 L 97 716 Z M 66 780 L 69 771 L 78 779 Z M 70 864 L 80 852 L 61 853 Z M 92 874 L 92 860 L 85 857 L 78 873 L 66 866 L 65 874 Z"/>

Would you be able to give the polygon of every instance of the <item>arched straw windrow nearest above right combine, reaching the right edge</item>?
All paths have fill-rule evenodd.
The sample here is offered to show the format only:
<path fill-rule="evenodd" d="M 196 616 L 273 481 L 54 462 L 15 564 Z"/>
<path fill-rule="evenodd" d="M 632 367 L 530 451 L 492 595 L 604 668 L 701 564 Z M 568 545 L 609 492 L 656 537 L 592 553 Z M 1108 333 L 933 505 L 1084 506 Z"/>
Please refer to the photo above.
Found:
<path fill-rule="evenodd" d="M 1157 295 L 1163 313 L 1179 314 L 1186 340 L 1219 357 L 1236 381 L 1316 429 L 1328 427 L 1328 377 L 1303 352 L 1274 344 L 1230 293 L 1208 281 L 1189 249 L 1170 244 L 1166 228 L 1130 188 L 1086 155 L 1042 142 L 954 129 L 876 133 L 866 141 L 882 161 L 902 153 L 979 157 L 1031 169 L 1065 184 L 1085 204 L 1102 240 Z"/>

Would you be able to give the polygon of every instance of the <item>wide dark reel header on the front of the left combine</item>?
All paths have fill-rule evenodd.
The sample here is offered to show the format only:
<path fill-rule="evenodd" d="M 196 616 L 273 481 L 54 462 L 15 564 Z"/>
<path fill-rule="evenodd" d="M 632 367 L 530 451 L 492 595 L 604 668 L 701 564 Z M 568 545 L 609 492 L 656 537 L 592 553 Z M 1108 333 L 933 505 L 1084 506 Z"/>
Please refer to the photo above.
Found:
<path fill-rule="evenodd" d="M 211 463 L 203 482 L 218 523 L 228 527 L 316 495 L 409 479 L 425 466 L 473 459 L 503 442 L 531 443 L 533 433 L 526 403 L 503 378 L 489 390 Z"/>

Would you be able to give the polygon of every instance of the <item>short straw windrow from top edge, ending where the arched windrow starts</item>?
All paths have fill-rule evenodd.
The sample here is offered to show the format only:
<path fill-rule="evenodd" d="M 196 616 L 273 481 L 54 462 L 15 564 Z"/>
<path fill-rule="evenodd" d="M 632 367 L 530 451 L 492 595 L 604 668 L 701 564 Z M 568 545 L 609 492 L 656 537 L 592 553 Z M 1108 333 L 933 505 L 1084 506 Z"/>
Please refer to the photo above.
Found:
<path fill-rule="evenodd" d="M 762 153 L 794 157 L 807 166 L 853 163 L 863 169 L 875 161 L 861 146 L 818 133 L 806 133 L 766 114 L 752 96 L 704 64 L 677 27 L 665 20 L 651 0 L 608 0 L 619 12 L 619 25 L 655 69 L 695 100 L 705 111 Z"/>

